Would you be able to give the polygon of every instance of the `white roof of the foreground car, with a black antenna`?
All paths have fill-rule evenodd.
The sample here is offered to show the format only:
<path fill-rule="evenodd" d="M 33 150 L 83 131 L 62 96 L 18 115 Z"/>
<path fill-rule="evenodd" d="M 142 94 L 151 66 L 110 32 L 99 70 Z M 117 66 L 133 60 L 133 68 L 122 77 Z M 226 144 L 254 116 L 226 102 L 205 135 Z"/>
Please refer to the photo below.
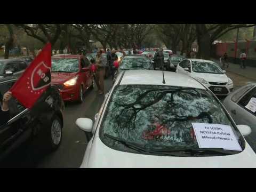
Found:
<path fill-rule="evenodd" d="M 206 88 L 187 75 L 164 71 L 165 84 L 163 84 L 163 72 L 160 70 L 127 70 L 124 71 L 121 85 L 164 85 L 193 87 L 197 89 Z"/>

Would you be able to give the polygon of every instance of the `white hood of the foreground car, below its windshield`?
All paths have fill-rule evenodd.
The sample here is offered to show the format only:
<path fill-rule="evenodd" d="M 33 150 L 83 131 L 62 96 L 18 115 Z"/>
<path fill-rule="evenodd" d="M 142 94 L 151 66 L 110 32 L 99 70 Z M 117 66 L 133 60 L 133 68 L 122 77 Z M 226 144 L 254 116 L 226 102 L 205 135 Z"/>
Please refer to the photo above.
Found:
<path fill-rule="evenodd" d="M 236 155 L 214 157 L 171 157 L 141 155 L 118 151 L 107 147 L 99 137 L 94 138 L 92 148 L 86 151 L 84 167 L 256 167 L 256 155 L 246 143 L 245 150 Z M 87 149 L 88 150 L 88 149 Z M 89 152 L 89 153 L 88 153 Z M 86 156 L 87 155 L 87 156 Z"/>

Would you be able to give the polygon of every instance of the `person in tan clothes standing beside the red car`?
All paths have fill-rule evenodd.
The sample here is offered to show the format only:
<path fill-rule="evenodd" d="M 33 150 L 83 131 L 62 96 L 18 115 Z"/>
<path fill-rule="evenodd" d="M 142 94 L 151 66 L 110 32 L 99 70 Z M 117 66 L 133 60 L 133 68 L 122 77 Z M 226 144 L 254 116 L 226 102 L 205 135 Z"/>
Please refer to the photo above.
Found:
<path fill-rule="evenodd" d="M 95 73 L 95 78 L 96 81 L 98 82 L 97 84 L 99 85 L 99 94 L 104 93 L 104 77 L 105 77 L 105 63 L 104 59 L 102 57 L 102 51 L 98 50 L 97 51 L 97 56 L 96 56 L 96 73 Z"/>

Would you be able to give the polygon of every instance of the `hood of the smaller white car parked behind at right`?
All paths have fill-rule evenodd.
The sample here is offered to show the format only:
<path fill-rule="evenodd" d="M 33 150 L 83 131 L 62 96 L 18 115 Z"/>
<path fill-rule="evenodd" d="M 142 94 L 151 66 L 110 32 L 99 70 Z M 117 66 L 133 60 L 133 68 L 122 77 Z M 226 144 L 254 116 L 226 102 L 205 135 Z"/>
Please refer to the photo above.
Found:
<path fill-rule="evenodd" d="M 207 82 L 218 82 L 218 83 L 227 83 L 228 77 L 226 74 L 209 74 L 209 73 L 193 73 L 191 77 L 200 77 Z"/>

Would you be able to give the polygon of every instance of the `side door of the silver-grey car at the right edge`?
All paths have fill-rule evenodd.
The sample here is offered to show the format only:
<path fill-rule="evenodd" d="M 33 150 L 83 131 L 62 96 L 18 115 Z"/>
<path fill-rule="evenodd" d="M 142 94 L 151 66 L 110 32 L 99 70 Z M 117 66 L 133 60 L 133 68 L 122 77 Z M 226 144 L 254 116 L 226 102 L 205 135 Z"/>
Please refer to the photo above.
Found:
<path fill-rule="evenodd" d="M 245 107 L 252 98 L 256 98 L 256 87 L 245 93 L 236 103 L 234 109 L 230 111 L 236 124 L 250 126 L 252 129 L 251 135 L 256 138 L 256 113 Z"/>

